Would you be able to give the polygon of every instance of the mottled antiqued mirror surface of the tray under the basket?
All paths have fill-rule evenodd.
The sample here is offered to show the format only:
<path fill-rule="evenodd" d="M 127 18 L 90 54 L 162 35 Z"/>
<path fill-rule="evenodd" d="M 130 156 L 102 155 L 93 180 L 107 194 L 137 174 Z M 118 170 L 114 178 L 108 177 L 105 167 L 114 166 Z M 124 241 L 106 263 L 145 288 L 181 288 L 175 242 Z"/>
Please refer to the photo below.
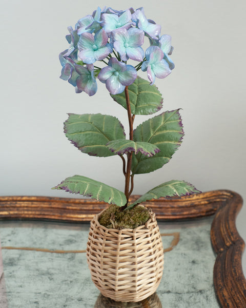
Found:
<path fill-rule="evenodd" d="M 165 252 L 161 283 L 147 301 L 113 302 L 91 281 L 89 223 L 1 221 L 1 308 L 219 307 L 213 286 L 213 216 L 158 222 Z"/>

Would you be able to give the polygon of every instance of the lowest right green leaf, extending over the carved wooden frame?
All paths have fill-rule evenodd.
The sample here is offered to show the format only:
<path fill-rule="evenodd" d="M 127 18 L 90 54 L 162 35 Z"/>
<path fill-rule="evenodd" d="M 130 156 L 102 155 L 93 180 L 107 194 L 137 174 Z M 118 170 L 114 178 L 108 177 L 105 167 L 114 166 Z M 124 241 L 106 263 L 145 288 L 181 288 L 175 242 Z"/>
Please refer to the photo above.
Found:
<path fill-rule="evenodd" d="M 199 192 L 201 191 L 197 190 L 192 184 L 188 182 L 172 180 L 166 183 L 162 183 L 159 186 L 156 186 L 155 188 L 152 188 L 146 194 L 138 198 L 128 208 L 131 208 L 136 204 L 151 199 L 159 199 L 160 197 L 189 196 Z"/>

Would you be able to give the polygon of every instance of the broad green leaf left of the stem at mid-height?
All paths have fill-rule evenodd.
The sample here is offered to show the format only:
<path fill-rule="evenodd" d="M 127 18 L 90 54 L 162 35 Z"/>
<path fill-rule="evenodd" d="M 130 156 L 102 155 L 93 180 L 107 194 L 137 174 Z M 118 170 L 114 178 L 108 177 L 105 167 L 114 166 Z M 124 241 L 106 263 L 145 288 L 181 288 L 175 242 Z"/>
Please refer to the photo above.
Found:
<path fill-rule="evenodd" d="M 125 131 L 119 120 L 104 114 L 69 114 L 64 123 L 66 137 L 81 152 L 91 156 L 115 155 L 106 144 L 115 139 L 125 139 Z"/>

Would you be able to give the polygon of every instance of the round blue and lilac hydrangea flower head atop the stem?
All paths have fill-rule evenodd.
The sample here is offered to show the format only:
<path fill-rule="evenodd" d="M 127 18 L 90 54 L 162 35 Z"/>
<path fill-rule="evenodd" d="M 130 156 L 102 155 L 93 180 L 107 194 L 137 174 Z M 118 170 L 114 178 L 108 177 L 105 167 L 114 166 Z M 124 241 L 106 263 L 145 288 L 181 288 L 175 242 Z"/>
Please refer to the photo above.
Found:
<path fill-rule="evenodd" d="M 165 78 L 174 68 L 169 57 L 173 50 L 171 36 L 160 36 L 160 29 L 147 19 L 143 8 L 98 8 L 80 18 L 74 30 L 68 27 L 66 39 L 70 45 L 59 54 L 63 66 L 60 78 L 68 80 L 76 93 L 84 91 L 90 96 L 97 91 L 97 78 L 111 94 L 118 94 L 135 81 L 139 69 L 147 71 L 153 85 L 156 77 Z M 150 42 L 146 51 L 142 48 L 145 37 Z M 138 63 L 129 65 L 129 59 Z"/>

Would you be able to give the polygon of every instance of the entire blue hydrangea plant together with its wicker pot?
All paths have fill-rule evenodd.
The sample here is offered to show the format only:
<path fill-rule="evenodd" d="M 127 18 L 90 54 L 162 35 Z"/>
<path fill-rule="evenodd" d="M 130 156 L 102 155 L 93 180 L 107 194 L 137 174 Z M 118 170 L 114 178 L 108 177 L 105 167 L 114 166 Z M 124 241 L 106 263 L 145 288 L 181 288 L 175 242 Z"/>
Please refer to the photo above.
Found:
<path fill-rule="evenodd" d="M 128 117 L 129 138 L 112 115 L 69 114 L 64 124 L 66 137 L 81 152 L 119 156 L 124 192 L 78 175 L 54 187 L 110 204 L 91 221 L 87 259 L 95 285 L 116 301 L 147 298 L 156 291 L 162 276 L 163 248 L 155 214 L 141 203 L 200 192 L 188 182 L 171 180 L 129 202 L 135 175 L 168 163 L 183 138 L 179 110 L 159 113 L 133 128 L 136 115 L 161 109 L 162 96 L 154 85 L 155 78 L 166 78 L 174 68 L 171 36 L 160 35 L 160 29 L 147 19 L 143 8 L 98 8 L 80 18 L 75 29 L 68 28 L 70 45 L 59 55 L 63 66 L 60 78 L 68 80 L 76 93 L 94 95 L 99 80 Z M 146 50 L 145 40 L 149 42 Z M 147 72 L 149 81 L 138 76 L 140 69 Z"/>

